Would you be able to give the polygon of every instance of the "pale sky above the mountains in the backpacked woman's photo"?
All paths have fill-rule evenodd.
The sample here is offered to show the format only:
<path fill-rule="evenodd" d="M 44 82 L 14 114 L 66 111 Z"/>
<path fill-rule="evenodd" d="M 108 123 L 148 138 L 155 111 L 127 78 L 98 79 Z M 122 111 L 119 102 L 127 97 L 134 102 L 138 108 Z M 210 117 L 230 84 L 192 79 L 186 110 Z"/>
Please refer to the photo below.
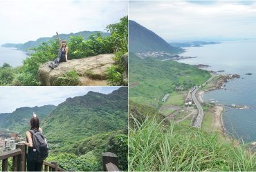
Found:
<path fill-rule="evenodd" d="M 89 91 L 109 94 L 119 87 L 0 87 L 0 113 L 15 111 L 19 107 L 59 105 L 66 98 L 84 96 Z"/>

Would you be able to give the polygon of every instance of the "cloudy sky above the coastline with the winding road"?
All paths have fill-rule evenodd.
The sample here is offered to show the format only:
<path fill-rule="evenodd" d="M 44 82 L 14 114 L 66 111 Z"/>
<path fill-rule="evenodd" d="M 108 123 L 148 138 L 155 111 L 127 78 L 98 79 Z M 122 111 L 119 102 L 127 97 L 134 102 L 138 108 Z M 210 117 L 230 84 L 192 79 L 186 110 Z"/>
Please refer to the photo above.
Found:
<path fill-rule="evenodd" d="M 130 1 L 129 19 L 167 42 L 256 38 L 256 1 Z"/>

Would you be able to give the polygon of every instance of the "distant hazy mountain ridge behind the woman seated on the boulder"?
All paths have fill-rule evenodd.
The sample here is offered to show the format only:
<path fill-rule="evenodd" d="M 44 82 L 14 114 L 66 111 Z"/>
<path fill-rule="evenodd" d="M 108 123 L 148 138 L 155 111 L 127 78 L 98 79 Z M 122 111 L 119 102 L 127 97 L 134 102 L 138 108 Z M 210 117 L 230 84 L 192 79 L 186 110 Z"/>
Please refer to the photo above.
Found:
<path fill-rule="evenodd" d="M 77 32 L 77 33 L 59 34 L 59 35 L 60 35 L 60 39 L 62 39 L 62 40 L 68 40 L 69 36 L 78 36 L 78 35 L 82 35 L 82 36 L 84 36 L 84 39 L 88 39 L 91 34 L 98 34 L 98 33 L 102 34 L 102 36 L 109 36 L 109 33 L 100 32 L 100 31 L 82 31 L 82 32 Z M 37 45 L 39 45 L 43 42 L 46 43 L 47 41 L 53 40 L 53 39 L 57 39 L 57 35 L 51 36 L 51 37 L 39 38 L 36 41 L 28 41 L 26 43 L 6 43 L 6 44 L 3 44 L 1 46 L 3 46 L 3 47 L 17 47 L 20 50 L 29 50 L 33 47 L 37 47 Z"/>

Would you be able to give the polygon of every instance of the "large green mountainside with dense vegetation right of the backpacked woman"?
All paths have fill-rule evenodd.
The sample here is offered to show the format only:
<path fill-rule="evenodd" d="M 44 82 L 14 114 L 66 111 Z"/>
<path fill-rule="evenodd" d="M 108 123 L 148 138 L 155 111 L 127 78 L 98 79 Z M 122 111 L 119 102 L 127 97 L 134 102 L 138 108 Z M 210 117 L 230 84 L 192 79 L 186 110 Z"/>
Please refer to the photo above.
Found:
<path fill-rule="evenodd" d="M 127 87 L 66 99 L 42 123 L 51 147 L 48 160 L 66 170 L 102 171 L 102 153 L 111 151 L 127 170 L 127 102 Z"/>

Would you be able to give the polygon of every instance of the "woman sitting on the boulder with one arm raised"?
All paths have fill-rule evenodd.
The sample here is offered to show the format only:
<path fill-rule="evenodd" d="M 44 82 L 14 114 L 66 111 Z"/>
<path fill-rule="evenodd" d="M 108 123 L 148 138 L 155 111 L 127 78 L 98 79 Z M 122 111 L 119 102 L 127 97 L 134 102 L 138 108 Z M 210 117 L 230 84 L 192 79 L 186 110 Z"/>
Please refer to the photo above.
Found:
<path fill-rule="evenodd" d="M 51 62 L 51 64 L 49 65 L 49 67 L 51 67 L 52 69 L 57 67 L 59 63 L 68 61 L 68 47 L 66 46 L 66 41 L 65 40 L 61 41 L 58 32 L 56 32 L 56 34 L 59 39 L 60 50 L 58 52 L 57 58 L 55 58 L 55 60 Z"/>

